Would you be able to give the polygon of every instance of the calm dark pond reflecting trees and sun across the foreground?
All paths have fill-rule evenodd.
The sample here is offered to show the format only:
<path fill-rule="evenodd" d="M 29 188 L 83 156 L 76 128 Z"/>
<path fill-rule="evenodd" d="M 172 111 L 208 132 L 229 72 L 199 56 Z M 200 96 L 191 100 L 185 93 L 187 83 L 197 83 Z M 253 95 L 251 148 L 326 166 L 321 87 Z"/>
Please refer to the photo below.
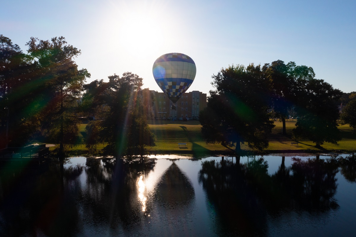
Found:
<path fill-rule="evenodd" d="M 354 236 L 356 156 L 0 167 L 1 236 Z"/>

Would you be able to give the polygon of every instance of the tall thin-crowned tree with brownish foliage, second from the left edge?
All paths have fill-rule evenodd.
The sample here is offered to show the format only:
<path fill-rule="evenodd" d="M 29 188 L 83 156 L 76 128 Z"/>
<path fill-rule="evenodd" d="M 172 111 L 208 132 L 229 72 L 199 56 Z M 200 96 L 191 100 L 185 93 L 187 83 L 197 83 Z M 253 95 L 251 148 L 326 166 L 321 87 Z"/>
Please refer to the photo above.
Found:
<path fill-rule="evenodd" d="M 42 82 L 39 98 L 43 103 L 39 115 L 42 131 L 59 143 L 58 153 L 62 155 L 64 144 L 77 143 L 79 128 L 75 99 L 80 96 L 90 74 L 87 69 L 78 69 L 73 59 L 80 55 L 80 50 L 67 44 L 63 36 L 51 41 L 31 37 L 26 45 L 28 53 L 36 59 L 36 80 Z"/>

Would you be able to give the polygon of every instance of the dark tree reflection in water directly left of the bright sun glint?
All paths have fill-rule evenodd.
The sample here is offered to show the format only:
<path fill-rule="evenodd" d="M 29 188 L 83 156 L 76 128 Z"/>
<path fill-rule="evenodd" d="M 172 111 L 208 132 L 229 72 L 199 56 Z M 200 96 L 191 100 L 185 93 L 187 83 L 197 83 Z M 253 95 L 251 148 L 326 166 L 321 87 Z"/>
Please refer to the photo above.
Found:
<path fill-rule="evenodd" d="M 83 198 L 87 200 L 85 214 L 97 220 L 95 225 L 133 225 L 150 215 L 150 206 L 140 199 L 140 177 L 147 177 L 155 167 L 151 159 L 141 160 L 100 160 L 87 159 L 87 189 Z M 141 192 L 142 193 L 142 192 Z M 145 203 L 147 205 L 147 203 Z"/>

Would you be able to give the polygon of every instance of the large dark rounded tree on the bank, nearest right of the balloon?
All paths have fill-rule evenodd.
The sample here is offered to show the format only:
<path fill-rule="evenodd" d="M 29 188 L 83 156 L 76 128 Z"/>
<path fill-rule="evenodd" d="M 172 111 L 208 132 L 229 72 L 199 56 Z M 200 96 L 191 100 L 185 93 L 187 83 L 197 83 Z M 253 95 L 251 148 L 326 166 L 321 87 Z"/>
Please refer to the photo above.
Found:
<path fill-rule="evenodd" d="M 250 148 L 266 148 L 274 125 L 267 112 L 269 81 L 260 65 L 232 65 L 212 78 L 216 91 L 210 91 L 207 108 L 199 115 L 206 142 L 235 147 L 237 154 L 244 142 Z"/>

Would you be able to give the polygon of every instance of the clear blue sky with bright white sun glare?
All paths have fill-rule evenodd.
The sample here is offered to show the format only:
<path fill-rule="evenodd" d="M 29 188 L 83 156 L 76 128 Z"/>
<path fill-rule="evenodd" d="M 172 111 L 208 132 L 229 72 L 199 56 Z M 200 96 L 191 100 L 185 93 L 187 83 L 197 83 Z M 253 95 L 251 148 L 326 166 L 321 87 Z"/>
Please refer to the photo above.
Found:
<path fill-rule="evenodd" d="M 11 0 L 1 3 L 0 34 L 23 52 L 30 37 L 64 36 L 90 81 L 132 72 L 161 91 L 152 66 L 184 53 L 197 67 L 187 90 L 209 93 L 229 65 L 276 60 L 312 67 L 346 93 L 356 91 L 356 1 Z M 354 68 L 354 69 L 352 69 Z"/>

